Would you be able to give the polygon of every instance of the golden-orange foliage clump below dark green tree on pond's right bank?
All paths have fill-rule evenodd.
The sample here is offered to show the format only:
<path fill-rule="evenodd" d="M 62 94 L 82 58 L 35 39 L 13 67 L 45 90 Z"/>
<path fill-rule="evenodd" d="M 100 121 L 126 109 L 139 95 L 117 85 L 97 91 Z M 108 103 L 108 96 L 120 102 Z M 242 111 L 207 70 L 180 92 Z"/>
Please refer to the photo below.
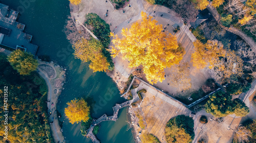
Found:
<path fill-rule="evenodd" d="M 73 45 L 73 48 L 75 49 L 75 58 L 80 59 L 83 63 L 90 62 L 89 67 L 93 72 L 109 69 L 110 63 L 102 54 L 103 45 L 100 41 L 95 39 L 88 41 L 81 38 Z"/>

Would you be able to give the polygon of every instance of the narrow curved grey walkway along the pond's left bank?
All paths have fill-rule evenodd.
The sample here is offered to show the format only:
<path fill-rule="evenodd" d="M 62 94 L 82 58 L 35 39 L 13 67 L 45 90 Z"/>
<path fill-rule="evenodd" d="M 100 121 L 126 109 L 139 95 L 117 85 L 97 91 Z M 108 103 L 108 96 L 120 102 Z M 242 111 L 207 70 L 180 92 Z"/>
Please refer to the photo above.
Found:
<path fill-rule="evenodd" d="M 40 64 L 46 64 L 46 65 L 49 65 L 52 68 L 54 68 L 53 63 L 47 64 L 46 62 L 42 62 L 42 61 L 38 61 L 38 63 L 39 63 L 39 65 Z M 61 71 L 60 67 L 55 67 L 54 69 L 55 69 L 56 74 L 57 74 L 56 71 Z M 53 122 L 53 124 L 50 125 L 52 137 L 54 139 L 54 142 L 64 143 L 64 142 L 66 142 L 66 140 L 65 140 L 62 132 L 60 131 L 61 128 L 59 126 L 58 117 L 57 117 L 57 113 L 56 113 L 56 103 L 58 101 L 58 95 L 60 94 L 60 91 L 57 92 L 56 94 L 54 93 L 54 90 L 56 90 L 56 88 L 54 87 L 54 81 L 55 81 L 55 79 L 61 78 L 62 75 L 65 74 L 65 71 L 61 71 L 59 74 L 57 74 L 56 78 L 54 78 L 54 79 L 51 79 L 51 78 L 47 77 L 48 76 L 47 73 L 44 70 L 40 69 L 40 68 L 37 68 L 37 72 L 42 78 L 45 79 L 47 87 L 48 87 L 48 93 L 47 93 L 48 98 L 47 99 L 50 102 L 48 103 L 47 107 L 48 107 L 48 111 L 52 112 L 52 114 L 49 115 L 49 122 Z M 65 79 L 63 79 L 63 81 L 64 80 Z M 62 86 L 58 90 L 61 90 L 61 89 L 62 89 Z"/>

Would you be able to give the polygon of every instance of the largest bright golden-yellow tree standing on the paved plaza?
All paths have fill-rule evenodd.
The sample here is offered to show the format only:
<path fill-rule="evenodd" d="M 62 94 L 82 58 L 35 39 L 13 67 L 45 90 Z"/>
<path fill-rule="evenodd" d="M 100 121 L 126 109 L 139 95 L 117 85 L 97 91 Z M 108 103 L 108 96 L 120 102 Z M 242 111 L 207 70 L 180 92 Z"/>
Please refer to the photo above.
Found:
<path fill-rule="evenodd" d="M 130 61 L 129 67 L 143 66 L 143 71 L 151 84 L 164 80 L 164 68 L 179 64 L 185 50 L 178 46 L 177 39 L 162 32 L 162 25 L 141 12 L 142 21 L 135 22 L 128 30 L 122 30 L 122 39 L 117 35 L 112 40 L 112 56 L 119 53 Z"/>

